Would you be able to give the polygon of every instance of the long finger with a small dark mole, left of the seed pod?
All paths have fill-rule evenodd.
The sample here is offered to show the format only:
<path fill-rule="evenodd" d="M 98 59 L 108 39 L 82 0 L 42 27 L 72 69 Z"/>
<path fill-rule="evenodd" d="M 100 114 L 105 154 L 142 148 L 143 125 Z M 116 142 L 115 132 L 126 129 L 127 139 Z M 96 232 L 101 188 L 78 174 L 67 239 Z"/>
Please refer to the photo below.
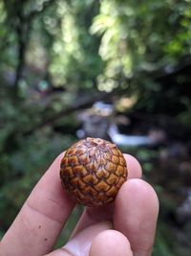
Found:
<path fill-rule="evenodd" d="M 63 153 L 32 190 L 1 241 L 0 256 L 38 256 L 53 248 L 74 208 L 74 202 L 61 187 L 59 169 L 62 157 Z"/>

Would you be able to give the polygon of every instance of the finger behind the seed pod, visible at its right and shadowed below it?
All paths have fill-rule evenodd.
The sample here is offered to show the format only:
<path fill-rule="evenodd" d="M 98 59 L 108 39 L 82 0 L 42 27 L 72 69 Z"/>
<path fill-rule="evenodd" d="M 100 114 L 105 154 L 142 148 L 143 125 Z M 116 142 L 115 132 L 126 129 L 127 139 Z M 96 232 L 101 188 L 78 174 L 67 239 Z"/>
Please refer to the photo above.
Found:
<path fill-rule="evenodd" d="M 128 179 L 130 178 L 140 178 L 142 175 L 140 164 L 138 160 L 130 155 L 124 154 L 127 169 L 128 169 Z M 114 213 L 114 203 L 108 205 L 96 206 L 96 207 L 86 207 L 84 212 L 75 226 L 73 235 L 84 229 L 86 226 L 96 223 L 97 221 L 112 221 Z M 72 235 L 72 236 L 73 236 Z"/>

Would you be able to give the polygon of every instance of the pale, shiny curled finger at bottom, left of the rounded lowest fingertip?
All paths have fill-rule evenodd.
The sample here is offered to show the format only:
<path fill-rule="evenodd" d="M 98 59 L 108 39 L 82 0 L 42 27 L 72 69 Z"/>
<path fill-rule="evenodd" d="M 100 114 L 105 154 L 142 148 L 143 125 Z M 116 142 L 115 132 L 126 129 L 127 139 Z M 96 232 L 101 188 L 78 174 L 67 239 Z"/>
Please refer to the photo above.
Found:
<path fill-rule="evenodd" d="M 96 236 L 112 228 L 110 221 L 101 221 L 89 227 L 86 227 L 76 235 L 62 248 L 46 254 L 46 256 L 88 256 L 90 247 Z"/>

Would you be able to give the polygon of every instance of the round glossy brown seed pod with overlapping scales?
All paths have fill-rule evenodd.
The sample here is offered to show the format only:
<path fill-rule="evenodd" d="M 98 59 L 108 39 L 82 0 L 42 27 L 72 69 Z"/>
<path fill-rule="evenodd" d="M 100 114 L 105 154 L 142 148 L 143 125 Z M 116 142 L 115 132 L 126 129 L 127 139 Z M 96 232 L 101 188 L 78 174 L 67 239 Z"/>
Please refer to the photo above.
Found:
<path fill-rule="evenodd" d="M 127 179 L 126 161 L 115 144 L 86 138 L 65 152 L 60 177 L 64 189 L 75 202 L 102 205 L 115 200 Z"/>

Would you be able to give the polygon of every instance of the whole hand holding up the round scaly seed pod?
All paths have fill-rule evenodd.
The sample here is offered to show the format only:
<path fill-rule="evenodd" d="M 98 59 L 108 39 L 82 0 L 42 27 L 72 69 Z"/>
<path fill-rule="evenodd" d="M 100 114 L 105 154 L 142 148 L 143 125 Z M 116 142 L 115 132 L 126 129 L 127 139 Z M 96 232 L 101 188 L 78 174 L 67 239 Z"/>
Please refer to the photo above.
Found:
<path fill-rule="evenodd" d="M 32 190 L 1 241 L 0 256 L 151 255 L 159 201 L 153 188 L 140 179 L 138 161 L 127 154 L 129 179 L 120 188 L 115 203 L 86 207 L 70 241 L 52 251 L 74 209 L 74 202 L 61 187 L 62 156 L 54 160 Z"/>

